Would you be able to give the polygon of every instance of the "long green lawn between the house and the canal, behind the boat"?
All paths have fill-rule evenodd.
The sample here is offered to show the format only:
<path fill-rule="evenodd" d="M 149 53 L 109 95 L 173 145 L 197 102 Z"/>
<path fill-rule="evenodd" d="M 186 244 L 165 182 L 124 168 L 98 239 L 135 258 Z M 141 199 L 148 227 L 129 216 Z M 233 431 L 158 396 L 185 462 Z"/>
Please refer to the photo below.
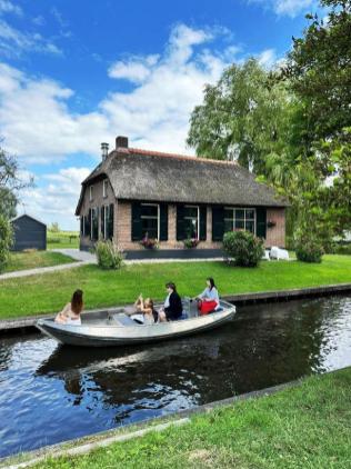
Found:
<path fill-rule="evenodd" d="M 0 281 L 0 319 L 58 311 L 77 288 L 84 291 L 87 309 L 130 303 L 140 292 L 160 300 L 170 280 L 181 296 L 193 296 L 203 290 L 207 277 L 214 277 L 220 295 L 345 283 L 351 282 L 351 257 L 325 256 L 320 265 L 261 262 L 257 269 L 224 262 L 134 265 L 119 271 L 83 266 Z"/>

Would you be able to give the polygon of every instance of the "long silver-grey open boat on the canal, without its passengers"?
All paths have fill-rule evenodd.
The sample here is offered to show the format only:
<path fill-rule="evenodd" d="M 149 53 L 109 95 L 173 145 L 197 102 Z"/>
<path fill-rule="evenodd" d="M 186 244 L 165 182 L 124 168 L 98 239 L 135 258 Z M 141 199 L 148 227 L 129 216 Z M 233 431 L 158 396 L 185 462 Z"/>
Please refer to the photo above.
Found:
<path fill-rule="evenodd" d="M 82 312 L 80 326 L 60 325 L 54 322 L 54 318 L 39 319 L 36 326 L 60 343 L 116 347 L 157 342 L 203 332 L 230 321 L 237 311 L 233 305 L 222 300 L 215 311 L 205 316 L 199 316 L 195 302 L 185 299 L 183 306 L 181 319 L 154 325 L 143 325 L 140 317 L 129 315 L 130 307 L 119 307 Z"/>

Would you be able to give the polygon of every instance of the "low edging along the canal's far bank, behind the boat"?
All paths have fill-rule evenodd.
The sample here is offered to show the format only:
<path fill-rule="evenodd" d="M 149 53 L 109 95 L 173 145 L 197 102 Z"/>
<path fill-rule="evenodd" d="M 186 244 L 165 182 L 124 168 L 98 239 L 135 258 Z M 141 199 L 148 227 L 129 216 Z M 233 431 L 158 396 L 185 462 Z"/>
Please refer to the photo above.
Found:
<path fill-rule="evenodd" d="M 248 303 L 248 302 L 268 302 L 268 301 L 282 301 L 282 300 L 293 300 L 303 297 L 317 297 L 317 296 L 327 296 L 334 293 L 345 293 L 351 291 L 351 283 L 339 283 L 339 285 L 328 285 L 321 287 L 310 287 L 310 288 L 299 288 L 291 290 L 277 290 L 277 291 L 259 291 L 252 293 L 238 293 L 238 295 L 224 295 L 223 300 L 238 303 Z M 94 312 L 98 309 L 92 309 L 87 312 Z M 101 310 L 101 308 L 99 308 Z M 113 308 L 106 308 L 107 311 L 113 310 Z M 6 333 L 7 331 L 16 331 L 17 329 L 31 329 L 34 327 L 38 319 L 52 318 L 53 313 L 49 315 L 36 315 L 27 316 L 19 319 L 8 319 L 0 321 L 0 335 Z"/>

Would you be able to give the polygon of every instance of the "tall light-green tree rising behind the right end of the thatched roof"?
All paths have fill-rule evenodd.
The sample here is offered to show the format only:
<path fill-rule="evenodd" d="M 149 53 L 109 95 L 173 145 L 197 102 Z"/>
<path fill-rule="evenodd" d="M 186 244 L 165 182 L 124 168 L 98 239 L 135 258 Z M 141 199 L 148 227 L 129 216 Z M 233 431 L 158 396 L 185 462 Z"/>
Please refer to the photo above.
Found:
<path fill-rule="evenodd" d="M 281 153 L 291 138 L 290 112 L 297 107 L 285 83 L 249 59 L 205 87 L 203 103 L 191 114 L 187 142 L 197 154 L 237 159 L 255 173 L 265 173 L 267 157 Z"/>

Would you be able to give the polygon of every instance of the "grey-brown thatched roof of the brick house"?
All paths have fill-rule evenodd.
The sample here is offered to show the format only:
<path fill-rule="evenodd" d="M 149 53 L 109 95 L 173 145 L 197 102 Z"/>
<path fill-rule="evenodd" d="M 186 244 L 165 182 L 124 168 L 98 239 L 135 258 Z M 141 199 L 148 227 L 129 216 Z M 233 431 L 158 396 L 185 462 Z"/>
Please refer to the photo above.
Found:
<path fill-rule="evenodd" d="M 82 182 L 108 177 L 117 199 L 233 206 L 285 207 L 265 184 L 235 162 L 119 148 Z"/>

